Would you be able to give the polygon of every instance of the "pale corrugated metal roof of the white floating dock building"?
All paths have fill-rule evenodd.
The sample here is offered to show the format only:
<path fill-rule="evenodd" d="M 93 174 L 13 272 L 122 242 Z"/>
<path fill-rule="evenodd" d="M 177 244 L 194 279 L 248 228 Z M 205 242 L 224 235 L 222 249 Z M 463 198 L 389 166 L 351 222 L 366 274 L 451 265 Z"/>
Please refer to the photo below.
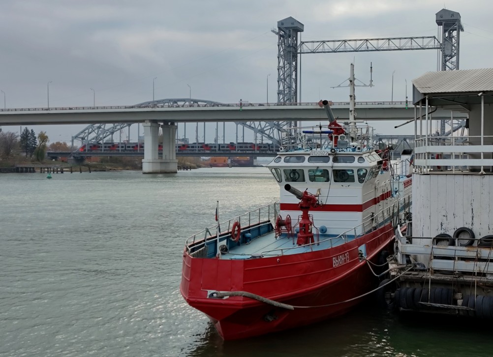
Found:
<path fill-rule="evenodd" d="M 493 68 L 426 72 L 413 84 L 422 94 L 493 91 Z"/>

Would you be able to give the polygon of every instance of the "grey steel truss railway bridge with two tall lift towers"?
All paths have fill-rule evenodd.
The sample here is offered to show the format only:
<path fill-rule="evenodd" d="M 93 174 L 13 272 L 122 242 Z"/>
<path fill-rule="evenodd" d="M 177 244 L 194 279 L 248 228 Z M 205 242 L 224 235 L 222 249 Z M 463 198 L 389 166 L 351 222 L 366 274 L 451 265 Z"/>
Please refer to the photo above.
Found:
<path fill-rule="evenodd" d="M 373 51 L 406 51 L 406 50 L 438 50 L 440 52 L 440 70 L 459 69 L 459 40 L 460 32 L 464 31 L 460 21 L 460 14 L 455 11 L 442 9 L 435 14 L 435 23 L 438 25 L 440 39 L 436 36 L 421 37 L 389 37 L 389 38 L 367 38 L 367 39 L 342 39 L 342 40 L 319 40 L 319 41 L 298 41 L 298 33 L 304 31 L 304 25 L 292 17 L 278 21 L 277 30 L 273 29 L 278 36 L 278 78 L 277 78 L 277 101 L 282 103 L 296 103 L 301 97 L 301 55 L 313 53 L 340 53 L 340 52 L 373 52 Z M 298 78 L 298 71 L 300 72 Z M 300 91 L 298 93 L 298 84 Z M 301 100 L 300 100 L 301 101 Z M 407 97 L 406 97 L 407 103 Z M 171 107 L 171 106 L 220 106 L 219 102 L 192 98 L 161 99 L 146 101 L 136 104 L 133 107 Z M 246 104 L 247 105 L 247 104 Z M 268 140 L 273 144 L 280 144 L 282 133 L 296 126 L 295 122 L 235 122 L 237 126 L 253 131 L 255 138 L 257 135 L 260 140 Z M 131 124 L 98 124 L 91 125 L 81 130 L 72 137 L 73 140 L 80 140 L 81 143 L 105 142 L 108 138 L 113 138 L 115 134 L 121 136 L 122 130 L 129 129 L 130 137 Z M 463 129 L 462 120 L 454 120 L 451 123 L 454 132 Z M 184 127 L 186 128 L 186 127 Z M 224 127 L 223 127 L 224 128 Z M 446 121 L 442 120 L 440 132 L 442 136 L 447 135 Z M 186 129 L 185 129 L 186 130 Z M 216 138 L 218 142 L 216 125 Z M 238 129 L 237 129 L 238 131 Z M 197 124 L 198 132 L 198 124 Z M 198 135 L 198 134 L 197 134 Z M 186 131 L 184 132 L 186 137 Z M 238 132 L 237 132 L 238 137 Z M 243 134 L 243 137 L 244 134 Z M 385 135 L 387 139 L 397 140 L 395 144 L 408 145 L 410 137 L 399 137 Z M 179 139 L 178 139 L 179 140 Z M 392 141 L 388 140 L 388 141 Z M 205 141 L 205 124 L 204 124 Z M 121 142 L 121 139 L 120 139 Z M 198 142 L 198 138 L 196 138 Z M 406 144 L 407 143 L 407 144 Z"/>

